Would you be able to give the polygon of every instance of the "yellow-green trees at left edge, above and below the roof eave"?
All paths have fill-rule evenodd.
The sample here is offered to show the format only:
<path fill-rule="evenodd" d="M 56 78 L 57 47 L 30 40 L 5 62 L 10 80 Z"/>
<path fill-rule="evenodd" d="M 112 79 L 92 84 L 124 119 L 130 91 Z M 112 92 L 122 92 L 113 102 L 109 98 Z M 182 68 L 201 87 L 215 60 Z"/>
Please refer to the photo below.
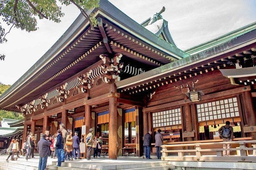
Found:
<path fill-rule="evenodd" d="M 0 82 L 0 95 L 3 94 L 7 89 L 9 89 L 10 86 L 11 85 L 5 85 Z M 0 110 L 0 119 L 1 118 L 20 120 L 23 118 L 23 116 L 20 113 Z"/>

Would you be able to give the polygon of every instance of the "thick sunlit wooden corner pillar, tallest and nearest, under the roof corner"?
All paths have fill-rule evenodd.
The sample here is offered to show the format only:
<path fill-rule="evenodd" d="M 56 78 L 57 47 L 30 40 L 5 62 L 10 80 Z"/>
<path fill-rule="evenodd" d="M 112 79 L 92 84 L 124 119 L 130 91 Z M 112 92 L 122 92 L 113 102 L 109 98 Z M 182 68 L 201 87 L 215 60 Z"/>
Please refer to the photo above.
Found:
<path fill-rule="evenodd" d="M 114 79 L 111 79 L 110 93 L 116 92 Z M 109 159 L 117 159 L 117 98 L 109 97 Z"/>

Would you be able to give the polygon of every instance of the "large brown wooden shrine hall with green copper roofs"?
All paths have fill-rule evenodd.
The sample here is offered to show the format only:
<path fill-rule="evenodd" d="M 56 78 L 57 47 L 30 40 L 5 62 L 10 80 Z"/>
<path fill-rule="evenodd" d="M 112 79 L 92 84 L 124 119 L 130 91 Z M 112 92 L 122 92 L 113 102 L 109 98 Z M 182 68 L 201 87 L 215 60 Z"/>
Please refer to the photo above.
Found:
<path fill-rule="evenodd" d="M 101 0 L 86 11 L 94 28 L 80 14 L 0 96 L 0 109 L 23 114 L 23 140 L 60 123 L 80 138 L 93 128 L 117 159 L 125 147 L 142 156 L 148 130 L 153 144 L 158 129 L 166 143 L 220 141 L 229 120 L 234 140 L 256 139 L 256 23 L 182 51 L 163 11 L 138 24 Z"/>

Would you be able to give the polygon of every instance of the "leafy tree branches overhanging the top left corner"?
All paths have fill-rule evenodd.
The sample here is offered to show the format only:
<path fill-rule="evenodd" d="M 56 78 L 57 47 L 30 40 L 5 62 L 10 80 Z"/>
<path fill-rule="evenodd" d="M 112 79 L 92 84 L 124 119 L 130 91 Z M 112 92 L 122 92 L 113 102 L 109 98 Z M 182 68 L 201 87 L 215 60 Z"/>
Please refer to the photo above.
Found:
<path fill-rule="evenodd" d="M 94 14 L 88 16 L 85 10 L 98 7 L 99 0 L 58 0 L 58 2 L 56 0 L 0 0 L 0 17 L 10 27 L 7 32 L 0 22 L 0 44 L 7 42 L 6 35 L 13 27 L 30 32 L 37 30 L 37 19 L 59 23 L 60 18 L 64 16 L 60 4 L 66 6 L 73 4 L 78 7 L 83 16 L 89 20 L 92 29 L 97 24 Z M 0 60 L 4 58 L 5 55 L 0 54 Z"/>

